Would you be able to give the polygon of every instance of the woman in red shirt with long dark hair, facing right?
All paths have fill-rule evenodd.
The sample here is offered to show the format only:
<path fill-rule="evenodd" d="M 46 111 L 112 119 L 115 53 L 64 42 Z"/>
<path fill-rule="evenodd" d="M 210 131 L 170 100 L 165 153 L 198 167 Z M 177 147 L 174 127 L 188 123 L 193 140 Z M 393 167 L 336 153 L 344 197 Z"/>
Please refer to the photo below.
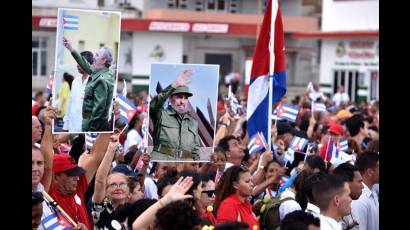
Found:
<path fill-rule="evenodd" d="M 216 222 L 238 221 L 246 223 L 250 230 L 259 230 L 259 221 L 252 211 L 248 198 L 252 195 L 251 173 L 245 166 L 231 166 L 222 175 L 217 186 L 215 209 Z"/>

